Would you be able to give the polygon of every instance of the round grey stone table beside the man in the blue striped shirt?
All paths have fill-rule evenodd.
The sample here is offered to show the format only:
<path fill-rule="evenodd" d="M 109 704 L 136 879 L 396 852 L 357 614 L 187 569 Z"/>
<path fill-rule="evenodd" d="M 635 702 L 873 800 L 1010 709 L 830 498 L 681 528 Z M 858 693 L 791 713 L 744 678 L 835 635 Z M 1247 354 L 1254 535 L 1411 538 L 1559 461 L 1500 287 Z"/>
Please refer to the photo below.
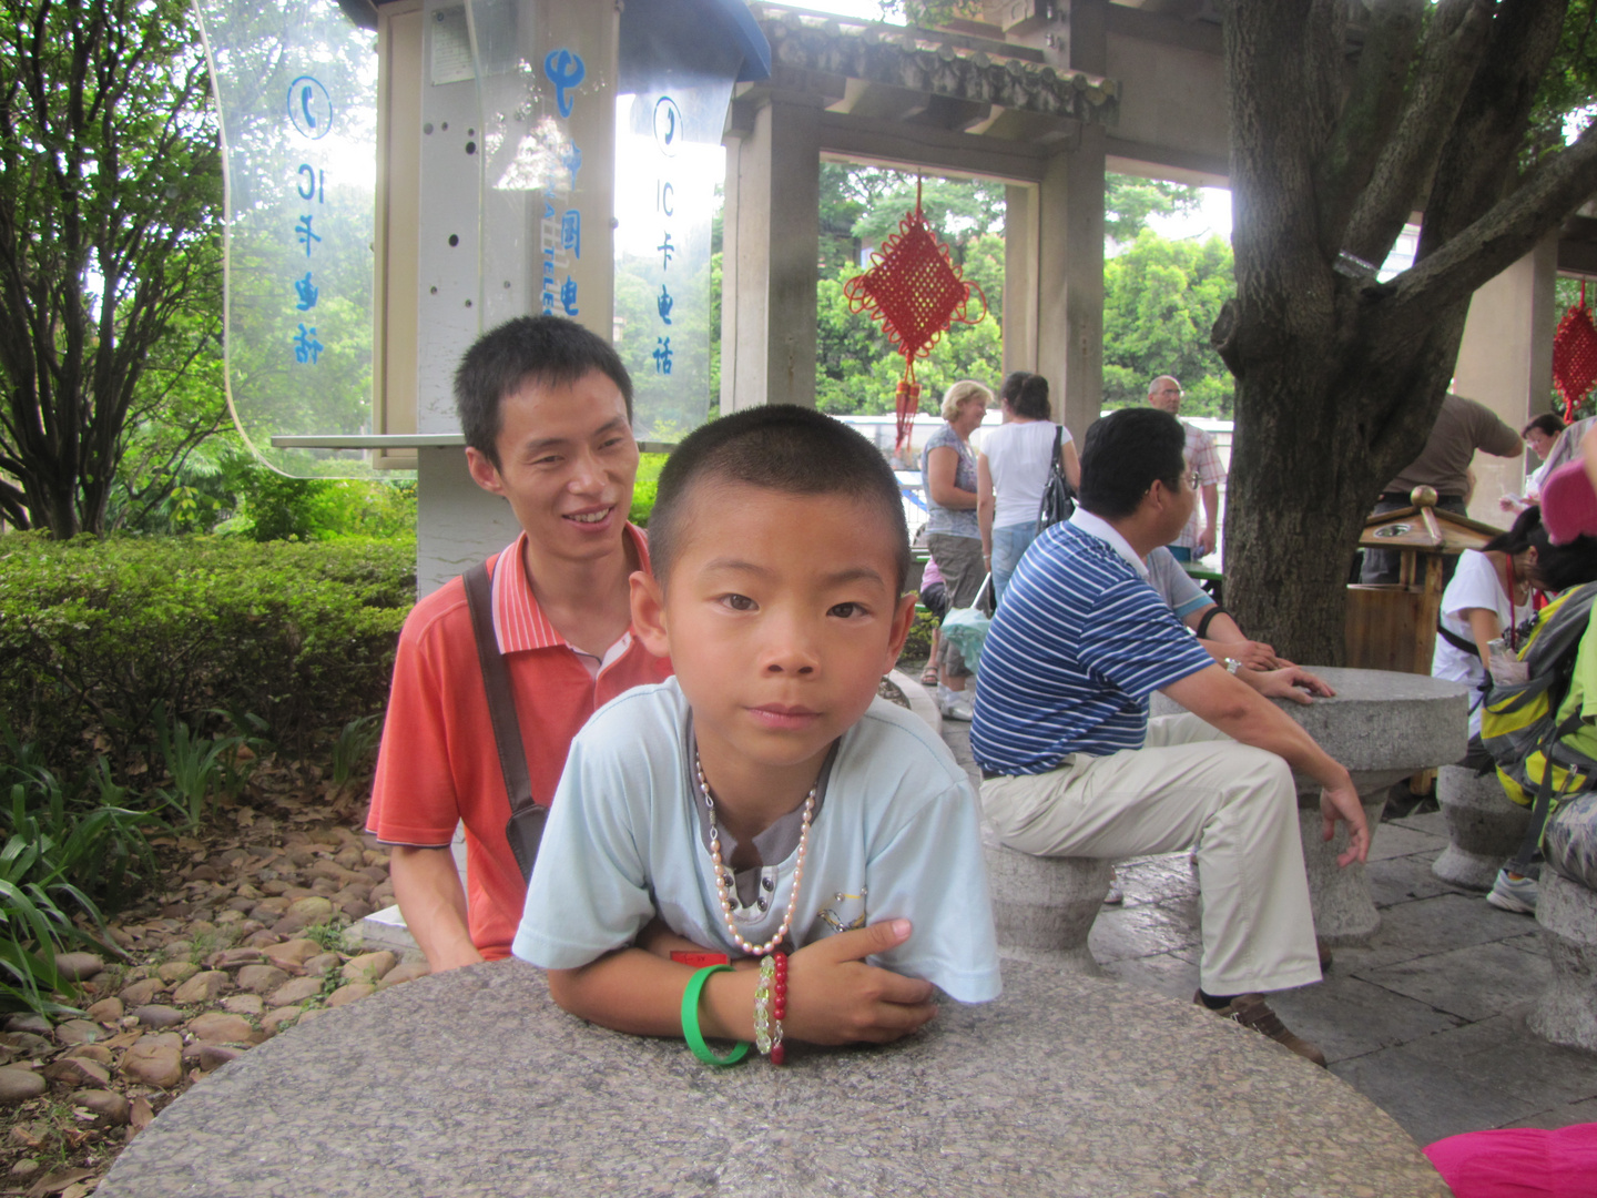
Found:
<path fill-rule="evenodd" d="M 1373 840 L 1393 783 L 1464 756 L 1468 692 L 1460 682 L 1425 674 L 1330 666 L 1308 669 L 1329 682 L 1337 695 L 1318 698 L 1308 706 L 1289 700 L 1274 703 L 1353 775 Z M 1155 716 L 1182 711 L 1164 695 L 1153 696 L 1151 709 Z M 1381 926 L 1381 917 L 1370 898 L 1364 866 L 1354 863 L 1341 869 L 1337 864 L 1337 855 L 1348 847 L 1346 826 L 1337 826 L 1330 843 L 1321 840 L 1319 783 L 1298 775 L 1297 787 L 1314 931 L 1332 946 L 1367 944 Z"/>

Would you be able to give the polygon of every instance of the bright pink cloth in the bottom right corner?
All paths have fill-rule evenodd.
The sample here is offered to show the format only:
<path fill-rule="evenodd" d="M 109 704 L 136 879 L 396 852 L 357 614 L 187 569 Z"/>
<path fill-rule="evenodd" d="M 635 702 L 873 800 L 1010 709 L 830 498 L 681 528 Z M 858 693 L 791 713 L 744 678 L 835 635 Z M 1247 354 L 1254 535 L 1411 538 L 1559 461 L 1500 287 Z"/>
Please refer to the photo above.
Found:
<path fill-rule="evenodd" d="M 1448 1136 L 1425 1150 L 1453 1198 L 1592 1198 L 1597 1123 L 1557 1131 L 1501 1128 Z"/>

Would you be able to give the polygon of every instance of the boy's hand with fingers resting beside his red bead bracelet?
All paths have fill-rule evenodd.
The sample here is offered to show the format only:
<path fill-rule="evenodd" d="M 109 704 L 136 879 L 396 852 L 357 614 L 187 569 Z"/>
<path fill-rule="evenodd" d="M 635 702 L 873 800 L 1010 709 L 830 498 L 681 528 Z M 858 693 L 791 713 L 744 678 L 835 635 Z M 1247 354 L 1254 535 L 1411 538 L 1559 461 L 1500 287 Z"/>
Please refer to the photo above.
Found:
<path fill-rule="evenodd" d="M 795 952 L 787 962 L 784 1035 L 813 1045 L 885 1045 L 921 1027 L 937 1013 L 931 1002 L 936 987 L 864 960 L 909 936 L 909 920 L 888 920 Z"/>

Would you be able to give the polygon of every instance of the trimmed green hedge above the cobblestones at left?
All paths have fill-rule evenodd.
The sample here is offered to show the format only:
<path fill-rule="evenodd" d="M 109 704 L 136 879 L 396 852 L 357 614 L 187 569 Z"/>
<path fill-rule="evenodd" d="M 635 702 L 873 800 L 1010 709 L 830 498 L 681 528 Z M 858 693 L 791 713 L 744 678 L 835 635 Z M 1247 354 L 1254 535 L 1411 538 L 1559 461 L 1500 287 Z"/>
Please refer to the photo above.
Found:
<path fill-rule="evenodd" d="M 415 543 L 0 537 L 0 719 L 59 765 L 267 722 L 284 752 L 382 711 Z"/>

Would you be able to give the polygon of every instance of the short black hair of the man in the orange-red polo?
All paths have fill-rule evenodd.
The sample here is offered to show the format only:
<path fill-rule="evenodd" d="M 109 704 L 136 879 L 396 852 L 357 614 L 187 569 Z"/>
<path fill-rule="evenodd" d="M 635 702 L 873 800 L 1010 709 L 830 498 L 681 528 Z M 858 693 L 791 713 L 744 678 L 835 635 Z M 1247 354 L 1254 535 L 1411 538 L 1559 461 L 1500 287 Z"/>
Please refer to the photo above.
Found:
<path fill-rule="evenodd" d="M 497 468 L 500 404 L 529 379 L 564 387 L 607 374 L 632 420 L 632 379 L 604 337 L 564 316 L 517 316 L 484 332 L 455 371 L 455 412 L 466 444 Z"/>

